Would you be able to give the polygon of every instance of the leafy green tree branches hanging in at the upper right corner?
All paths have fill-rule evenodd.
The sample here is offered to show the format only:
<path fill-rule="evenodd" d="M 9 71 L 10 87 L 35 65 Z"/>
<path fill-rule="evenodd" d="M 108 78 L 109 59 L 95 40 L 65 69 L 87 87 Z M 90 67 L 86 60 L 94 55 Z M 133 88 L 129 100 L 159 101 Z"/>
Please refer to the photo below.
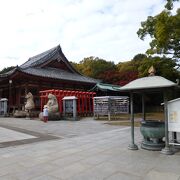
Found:
<path fill-rule="evenodd" d="M 179 0 L 174 0 L 179 1 Z M 165 9 L 156 16 L 149 16 L 141 22 L 137 34 L 144 40 L 150 35 L 152 41 L 147 54 L 172 55 L 177 62 L 180 60 L 180 9 L 173 15 L 173 0 L 167 0 Z"/>

